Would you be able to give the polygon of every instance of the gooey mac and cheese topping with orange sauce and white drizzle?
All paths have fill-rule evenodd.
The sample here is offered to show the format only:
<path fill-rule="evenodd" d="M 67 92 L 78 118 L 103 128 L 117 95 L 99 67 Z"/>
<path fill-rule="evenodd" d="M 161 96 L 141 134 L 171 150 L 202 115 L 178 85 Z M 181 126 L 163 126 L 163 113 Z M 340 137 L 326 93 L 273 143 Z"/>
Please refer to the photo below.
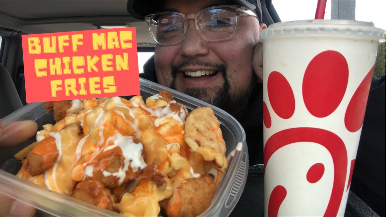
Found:
<path fill-rule="evenodd" d="M 25 171 L 25 160 L 18 176 L 66 195 L 71 195 L 80 181 L 112 177 L 117 183 L 115 190 L 122 196 L 118 203 L 121 214 L 157 216 L 159 201 L 173 195 L 167 209 L 178 215 L 179 185 L 208 173 L 213 174 L 215 183 L 220 180 L 219 172 L 203 157 L 218 153 L 204 147 L 198 153 L 191 152 L 184 140 L 185 109 L 176 109 L 174 105 L 172 110 L 176 101 L 166 103 L 162 99 L 156 94 L 147 98 L 146 103 L 141 96 L 130 100 L 74 100 L 67 117 L 55 125 L 44 125 L 36 136 L 37 142 L 51 144 L 52 151 L 32 152 L 53 166 L 43 174 L 30 176 Z M 78 125 L 83 132 L 75 132 L 74 126 Z M 68 129 L 69 126 L 74 129 Z M 55 154 L 57 159 L 50 162 Z M 158 188 L 147 177 L 127 182 L 151 164 L 156 164 L 156 170 L 164 175 L 166 188 Z M 129 186 L 126 190 L 124 184 Z"/>

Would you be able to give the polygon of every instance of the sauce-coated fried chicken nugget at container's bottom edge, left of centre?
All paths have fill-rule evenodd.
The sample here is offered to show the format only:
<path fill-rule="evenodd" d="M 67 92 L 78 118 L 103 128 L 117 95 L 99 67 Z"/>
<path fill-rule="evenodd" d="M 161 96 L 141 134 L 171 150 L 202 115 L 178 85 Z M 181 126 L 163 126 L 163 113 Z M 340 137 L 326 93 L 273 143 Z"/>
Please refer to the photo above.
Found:
<path fill-rule="evenodd" d="M 95 180 L 84 180 L 78 183 L 71 197 L 103 209 L 118 211 L 111 190 Z"/>

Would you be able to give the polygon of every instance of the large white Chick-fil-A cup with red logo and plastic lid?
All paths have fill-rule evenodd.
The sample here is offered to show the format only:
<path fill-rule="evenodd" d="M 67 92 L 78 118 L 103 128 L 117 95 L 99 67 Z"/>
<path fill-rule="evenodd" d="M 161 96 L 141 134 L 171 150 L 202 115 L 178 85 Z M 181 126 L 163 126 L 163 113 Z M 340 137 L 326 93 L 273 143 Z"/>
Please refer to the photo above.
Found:
<path fill-rule="evenodd" d="M 265 216 L 344 216 L 384 39 L 354 20 L 262 30 Z"/>

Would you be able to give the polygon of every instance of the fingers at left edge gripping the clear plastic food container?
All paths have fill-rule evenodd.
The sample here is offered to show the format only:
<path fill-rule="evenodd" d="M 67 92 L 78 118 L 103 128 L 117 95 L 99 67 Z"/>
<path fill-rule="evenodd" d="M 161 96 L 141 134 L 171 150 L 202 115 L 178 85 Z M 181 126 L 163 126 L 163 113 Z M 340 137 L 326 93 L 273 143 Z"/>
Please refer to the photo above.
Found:
<path fill-rule="evenodd" d="M 5 138 L 8 132 L 15 132 Z M 9 125 L 6 129 L 0 124 L 0 146 L 17 145 L 34 136 L 37 132 L 37 124 L 34 121 L 26 120 L 15 122 Z M 0 194 L 0 216 L 33 216 L 36 212 L 34 207 L 31 207 L 23 202 Z"/>

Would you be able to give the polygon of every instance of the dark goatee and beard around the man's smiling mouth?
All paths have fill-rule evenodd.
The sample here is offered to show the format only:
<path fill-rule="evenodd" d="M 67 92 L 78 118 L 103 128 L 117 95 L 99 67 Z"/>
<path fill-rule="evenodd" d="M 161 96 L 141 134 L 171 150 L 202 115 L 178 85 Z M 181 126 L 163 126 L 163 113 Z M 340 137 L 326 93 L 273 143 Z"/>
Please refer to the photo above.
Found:
<path fill-rule="evenodd" d="M 190 95 L 191 97 L 197 98 L 209 104 L 212 104 L 222 110 L 228 112 L 235 119 L 240 120 L 249 105 L 252 92 L 257 84 L 257 77 L 255 73 L 252 73 L 251 86 L 244 93 L 240 90 L 234 93 L 230 92 L 230 83 L 227 79 L 227 68 L 224 64 L 210 63 L 204 60 L 185 60 L 178 65 L 171 66 L 171 74 L 173 80 L 170 83 L 170 88 L 176 90 L 176 78 L 179 68 L 184 66 L 206 66 L 211 68 L 217 68 L 222 71 L 222 77 L 224 84 L 216 87 L 189 87 L 186 88 L 183 93 Z M 240 88 L 239 88 L 240 89 Z M 212 94 L 210 94 L 212 93 Z M 215 97 L 211 97 L 214 95 Z"/>

